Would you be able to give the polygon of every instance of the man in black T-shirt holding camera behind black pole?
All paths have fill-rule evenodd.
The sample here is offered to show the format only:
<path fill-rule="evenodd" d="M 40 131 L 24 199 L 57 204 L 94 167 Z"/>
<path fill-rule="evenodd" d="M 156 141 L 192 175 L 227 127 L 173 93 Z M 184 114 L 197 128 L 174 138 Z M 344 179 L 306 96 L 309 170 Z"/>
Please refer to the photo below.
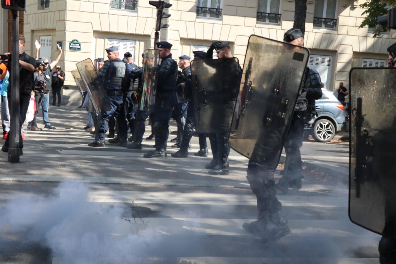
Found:
<path fill-rule="evenodd" d="M 10 55 L 10 53 L 6 53 L 5 55 Z M 12 75 L 12 63 L 16 63 L 10 61 L 8 63 L 8 72 Z M 34 85 L 33 71 L 36 67 L 36 63 L 33 57 L 30 57 L 25 53 L 25 36 L 19 34 L 19 124 L 23 124 L 26 119 L 27 108 L 29 107 L 30 94 Z M 11 89 L 10 86 L 8 86 Z M 17 89 L 18 91 L 18 89 Z M 10 94 L 10 90 L 8 90 L 8 94 Z M 10 97 L 8 97 L 11 99 Z M 13 129 L 12 127 L 10 128 Z M 10 145 L 10 137 L 7 137 L 6 142 L 2 146 L 3 152 L 8 152 L 8 147 Z M 19 155 L 23 154 L 23 139 L 21 134 L 21 126 L 19 126 Z"/>

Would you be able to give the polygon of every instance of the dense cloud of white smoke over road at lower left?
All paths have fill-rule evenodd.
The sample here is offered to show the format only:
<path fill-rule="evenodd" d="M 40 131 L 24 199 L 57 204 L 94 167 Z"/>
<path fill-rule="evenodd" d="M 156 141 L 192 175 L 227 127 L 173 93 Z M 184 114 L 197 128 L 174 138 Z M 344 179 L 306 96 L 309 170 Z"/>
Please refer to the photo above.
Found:
<path fill-rule="evenodd" d="M 10 200 L 0 212 L 0 231 L 23 234 L 27 242 L 49 247 L 61 263 L 69 264 L 101 259 L 129 263 L 126 260 L 148 245 L 160 242 L 161 236 L 154 236 L 153 230 L 143 230 L 141 219 L 131 218 L 130 209 L 86 202 L 88 193 L 87 185 L 66 182 L 48 197 L 24 195 Z"/>

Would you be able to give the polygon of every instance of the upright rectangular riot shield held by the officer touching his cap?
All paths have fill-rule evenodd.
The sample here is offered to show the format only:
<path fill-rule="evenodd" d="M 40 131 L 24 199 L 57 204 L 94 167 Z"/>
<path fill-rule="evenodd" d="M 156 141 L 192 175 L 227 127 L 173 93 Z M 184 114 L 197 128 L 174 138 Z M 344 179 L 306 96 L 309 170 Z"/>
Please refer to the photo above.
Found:
<path fill-rule="evenodd" d="M 192 101 L 198 133 L 228 133 L 240 85 L 237 58 L 191 62 Z"/>

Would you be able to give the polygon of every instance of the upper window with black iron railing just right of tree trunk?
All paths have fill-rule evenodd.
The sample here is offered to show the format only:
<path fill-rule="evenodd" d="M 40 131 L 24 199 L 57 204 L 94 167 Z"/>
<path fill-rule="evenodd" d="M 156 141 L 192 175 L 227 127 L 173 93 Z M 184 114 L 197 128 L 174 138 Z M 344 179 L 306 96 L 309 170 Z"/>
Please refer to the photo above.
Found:
<path fill-rule="evenodd" d="M 314 27 L 335 29 L 337 19 L 335 13 L 337 0 L 316 0 L 314 13 Z"/>

